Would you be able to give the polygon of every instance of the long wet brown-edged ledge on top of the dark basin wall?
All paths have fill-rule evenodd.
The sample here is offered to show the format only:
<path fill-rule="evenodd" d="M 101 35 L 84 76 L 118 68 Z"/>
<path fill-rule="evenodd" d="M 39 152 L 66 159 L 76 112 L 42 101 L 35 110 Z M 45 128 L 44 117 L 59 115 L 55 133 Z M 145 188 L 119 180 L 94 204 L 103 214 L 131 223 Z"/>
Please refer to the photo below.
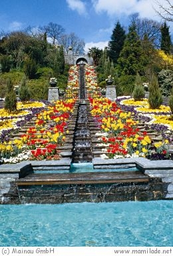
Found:
<path fill-rule="evenodd" d="M 92 173 L 35 173 L 17 179 L 18 186 L 58 184 L 148 183 L 149 177 L 140 171 Z"/>

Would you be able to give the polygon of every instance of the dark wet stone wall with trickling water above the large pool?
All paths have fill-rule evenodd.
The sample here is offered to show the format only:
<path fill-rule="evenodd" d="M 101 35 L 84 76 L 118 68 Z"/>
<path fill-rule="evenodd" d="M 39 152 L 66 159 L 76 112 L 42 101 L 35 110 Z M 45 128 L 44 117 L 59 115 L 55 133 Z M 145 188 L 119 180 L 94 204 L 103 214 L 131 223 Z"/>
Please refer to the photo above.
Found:
<path fill-rule="evenodd" d="M 161 179 L 150 179 L 149 183 L 19 186 L 21 203 L 150 201 L 164 199 L 166 193 L 167 185 Z"/>

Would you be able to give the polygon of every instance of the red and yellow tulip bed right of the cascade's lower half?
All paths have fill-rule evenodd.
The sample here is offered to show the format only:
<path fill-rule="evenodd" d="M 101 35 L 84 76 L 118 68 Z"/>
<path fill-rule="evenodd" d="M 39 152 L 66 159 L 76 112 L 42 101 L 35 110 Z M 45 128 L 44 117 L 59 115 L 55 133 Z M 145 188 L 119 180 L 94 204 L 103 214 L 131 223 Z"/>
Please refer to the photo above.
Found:
<path fill-rule="evenodd" d="M 106 98 L 90 99 L 91 114 L 96 119 L 104 136 L 100 139 L 105 149 L 102 157 L 148 157 L 162 155 L 162 159 L 169 157 L 166 150 L 168 140 L 152 143 L 146 131 L 140 132 L 138 121 L 134 121 L 132 113 L 124 113 L 116 103 Z M 106 153 L 106 154 L 105 154 Z"/>

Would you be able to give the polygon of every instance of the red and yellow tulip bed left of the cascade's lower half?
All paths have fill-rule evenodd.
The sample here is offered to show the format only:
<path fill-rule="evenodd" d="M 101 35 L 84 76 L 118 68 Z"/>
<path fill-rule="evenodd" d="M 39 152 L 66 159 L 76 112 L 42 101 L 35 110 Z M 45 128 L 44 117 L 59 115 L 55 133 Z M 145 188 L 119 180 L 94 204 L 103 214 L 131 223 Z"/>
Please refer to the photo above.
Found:
<path fill-rule="evenodd" d="M 65 141 L 65 134 L 68 133 L 67 119 L 71 116 L 74 104 L 75 99 L 57 101 L 53 107 L 47 107 L 37 114 L 35 125 L 21 138 L 1 143 L 3 162 L 59 159 L 58 146 Z"/>

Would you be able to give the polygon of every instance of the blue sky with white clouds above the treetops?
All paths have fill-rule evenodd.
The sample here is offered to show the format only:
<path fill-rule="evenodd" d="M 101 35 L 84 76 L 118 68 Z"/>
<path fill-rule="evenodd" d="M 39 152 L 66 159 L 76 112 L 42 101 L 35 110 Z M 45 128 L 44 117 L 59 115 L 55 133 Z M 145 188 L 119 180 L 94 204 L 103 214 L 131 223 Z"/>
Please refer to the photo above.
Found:
<path fill-rule="evenodd" d="M 156 14 L 157 0 L 0 0 L 0 32 L 16 31 L 47 25 L 49 22 L 64 27 L 65 33 L 75 33 L 90 47 L 104 47 L 119 21 L 128 29 L 129 15 L 161 21 Z M 164 3 L 164 0 L 159 0 Z M 168 23 L 170 31 L 172 24 Z M 171 27 L 172 26 L 172 27 Z"/>

